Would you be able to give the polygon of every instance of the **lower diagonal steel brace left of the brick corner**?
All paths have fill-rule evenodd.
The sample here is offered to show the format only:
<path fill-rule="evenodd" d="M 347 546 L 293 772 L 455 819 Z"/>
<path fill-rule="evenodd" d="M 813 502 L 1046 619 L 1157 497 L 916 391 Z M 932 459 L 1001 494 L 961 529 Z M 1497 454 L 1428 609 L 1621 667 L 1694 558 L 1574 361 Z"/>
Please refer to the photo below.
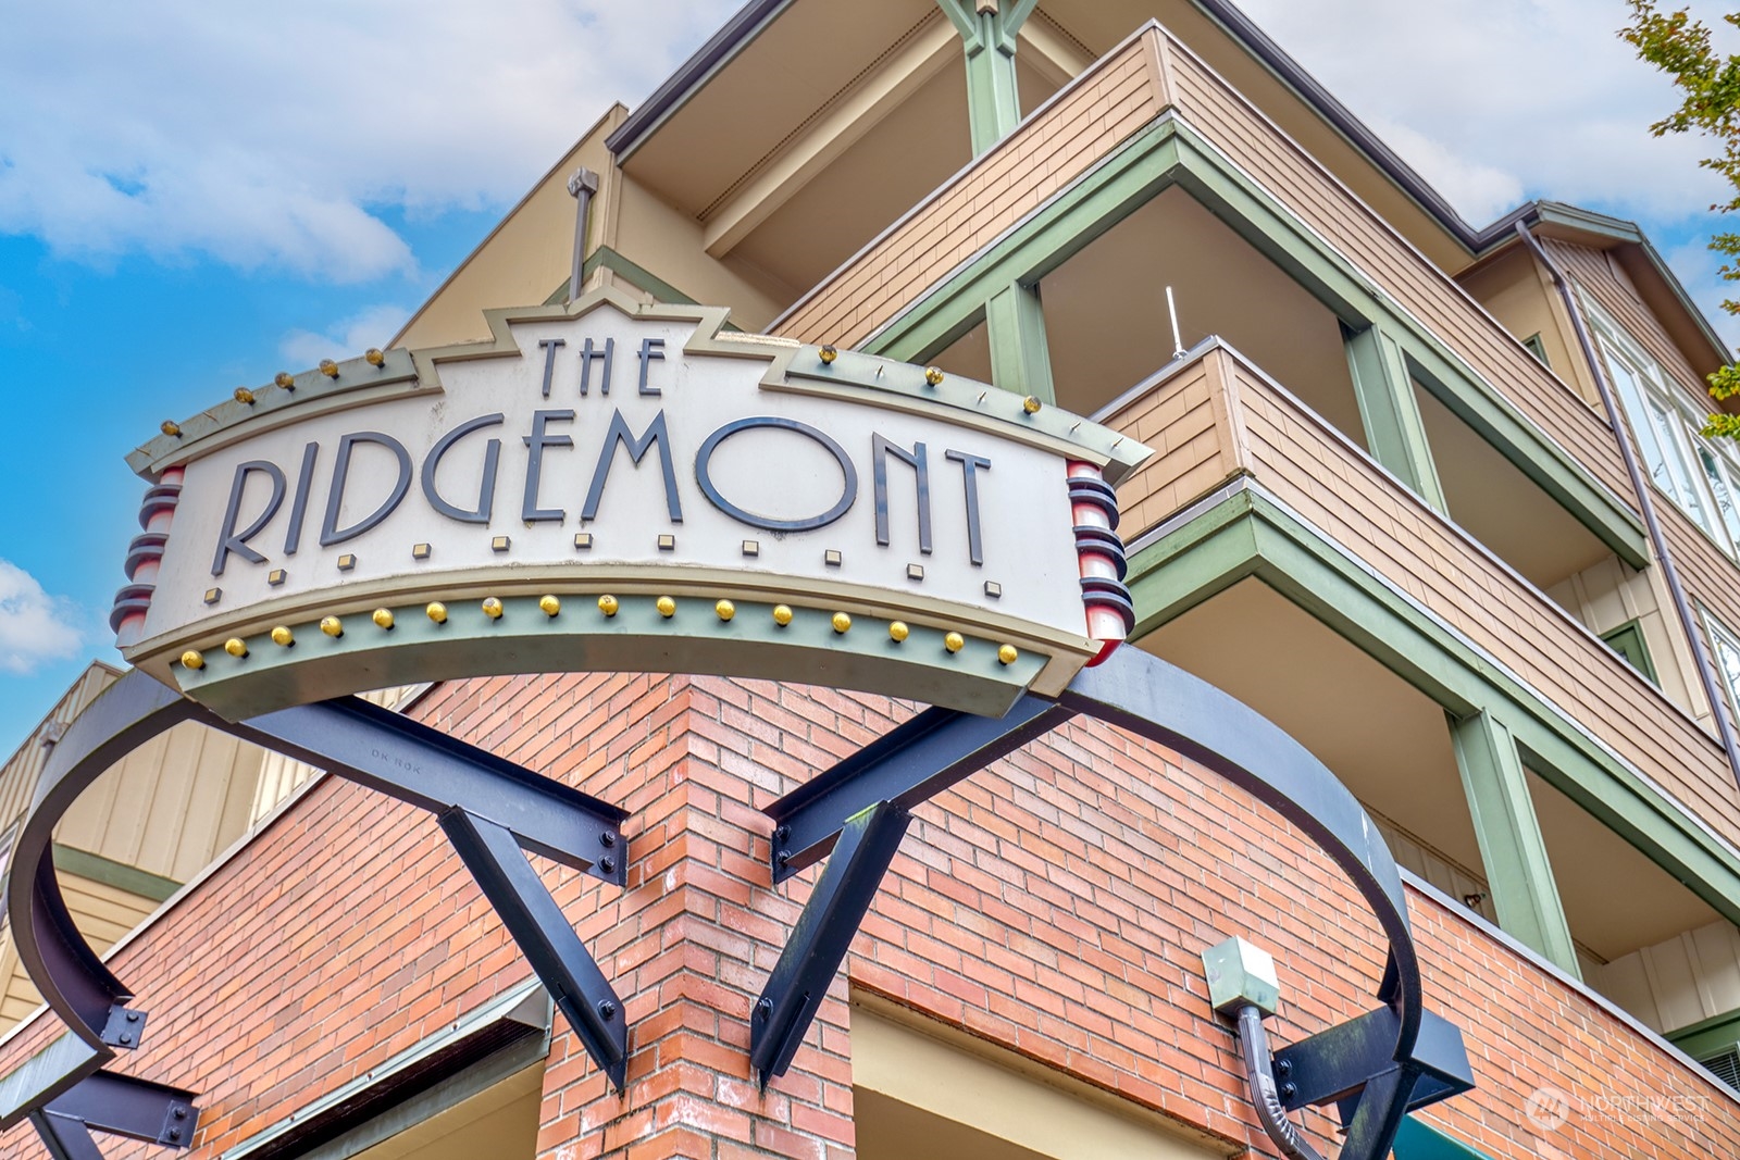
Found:
<path fill-rule="evenodd" d="M 628 1083 L 628 1016 L 609 979 L 599 970 L 543 878 L 525 859 L 513 833 L 463 809 L 440 814 L 452 849 L 470 868 L 484 897 L 532 963 L 555 1005 L 586 1045 L 586 1054 L 611 1077 Z"/>

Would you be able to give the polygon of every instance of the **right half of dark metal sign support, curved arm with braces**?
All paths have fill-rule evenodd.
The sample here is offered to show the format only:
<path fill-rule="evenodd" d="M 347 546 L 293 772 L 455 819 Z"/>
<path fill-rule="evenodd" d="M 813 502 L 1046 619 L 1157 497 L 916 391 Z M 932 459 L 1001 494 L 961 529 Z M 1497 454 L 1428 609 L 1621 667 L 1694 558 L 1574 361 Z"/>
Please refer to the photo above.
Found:
<path fill-rule="evenodd" d="M 1131 645 L 1082 670 L 1056 703 L 1027 696 L 1002 720 L 927 710 L 767 807 L 774 882 L 832 857 L 753 1009 L 750 1059 L 764 1087 L 790 1066 L 908 810 L 1075 715 L 1164 744 L 1248 791 L 1324 850 L 1371 908 L 1389 941 L 1385 1005 L 1289 1049 L 1312 1092 L 1343 1103 L 1343 1160 L 1389 1155 L 1411 1106 L 1465 1090 L 1460 1033 L 1425 1012 L 1401 873 L 1364 807 L 1279 725 Z"/>

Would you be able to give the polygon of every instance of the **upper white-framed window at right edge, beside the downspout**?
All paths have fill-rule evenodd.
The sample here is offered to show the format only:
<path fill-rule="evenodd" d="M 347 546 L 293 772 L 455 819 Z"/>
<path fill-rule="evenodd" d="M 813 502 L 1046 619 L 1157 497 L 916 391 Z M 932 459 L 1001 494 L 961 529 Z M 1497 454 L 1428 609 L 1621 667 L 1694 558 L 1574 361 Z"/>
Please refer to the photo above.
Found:
<path fill-rule="evenodd" d="M 1583 303 L 1644 471 L 1723 551 L 1740 557 L 1740 454 L 1726 440 L 1705 440 L 1693 397 L 1611 315 L 1587 296 Z"/>

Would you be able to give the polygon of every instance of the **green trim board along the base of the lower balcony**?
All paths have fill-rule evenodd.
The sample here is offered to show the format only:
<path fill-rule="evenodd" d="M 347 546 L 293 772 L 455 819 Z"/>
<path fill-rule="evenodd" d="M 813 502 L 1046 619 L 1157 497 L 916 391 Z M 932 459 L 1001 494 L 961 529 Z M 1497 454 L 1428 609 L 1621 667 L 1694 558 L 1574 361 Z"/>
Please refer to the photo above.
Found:
<path fill-rule="evenodd" d="M 1528 769 L 1740 922 L 1740 850 L 1253 480 L 1235 480 L 1133 546 L 1128 583 L 1138 624 L 1131 638 L 1258 577 L 1453 717 L 1488 711 L 1503 720 Z"/>

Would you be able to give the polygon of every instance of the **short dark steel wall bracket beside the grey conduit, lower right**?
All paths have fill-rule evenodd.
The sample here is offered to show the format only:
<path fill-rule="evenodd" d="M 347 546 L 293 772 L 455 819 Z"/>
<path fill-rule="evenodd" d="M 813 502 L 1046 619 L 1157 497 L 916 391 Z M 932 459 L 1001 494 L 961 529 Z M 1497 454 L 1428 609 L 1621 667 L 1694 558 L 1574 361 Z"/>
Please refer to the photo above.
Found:
<path fill-rule="evenodd" d="M 1352 1111 L 1368 1083 L 1399 1066 L 1418 1073 L 1408 1111 L 1474 1087 L 1474 1068 L 1456 1024 L 1430 1010 L 1422 1012 L 1413 1050 L 1395 1059 L 1397 1023 L 1390 1007 L 1378 1007 L 1277 1050 L 1275 1075 L 1286 1080 L 1281 1103 L 1288 1111 L 1331 1103 Z"/>

